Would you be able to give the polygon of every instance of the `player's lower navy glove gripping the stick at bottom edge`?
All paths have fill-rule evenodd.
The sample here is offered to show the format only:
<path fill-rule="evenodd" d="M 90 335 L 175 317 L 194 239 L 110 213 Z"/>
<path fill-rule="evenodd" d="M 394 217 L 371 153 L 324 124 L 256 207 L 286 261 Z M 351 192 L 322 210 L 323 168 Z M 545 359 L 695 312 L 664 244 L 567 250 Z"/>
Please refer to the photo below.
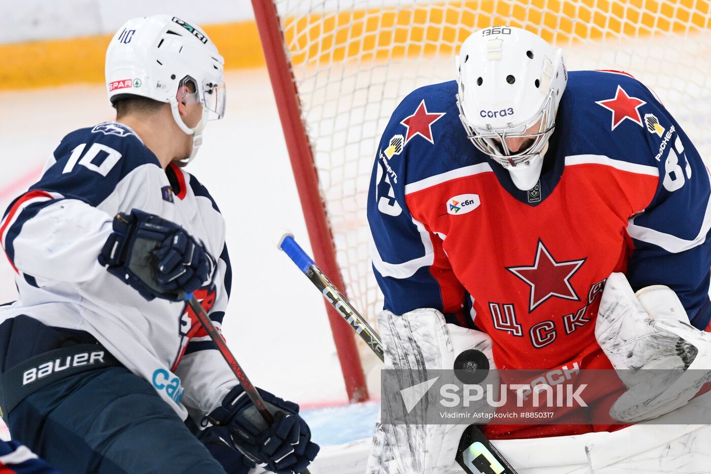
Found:
<path fill-rule="evenodd" d="M 241 385 L 225 396 L 222 405 L 207 416 L 208 421 L 227 426 L 235 448 L 264 469 L 278 474 L 301 472 L 320 448 L 311 442 L 311 430 L 299 416 L 299 405 L 257 390 L 274 414 L 272 426 L 267 426 Z"/>

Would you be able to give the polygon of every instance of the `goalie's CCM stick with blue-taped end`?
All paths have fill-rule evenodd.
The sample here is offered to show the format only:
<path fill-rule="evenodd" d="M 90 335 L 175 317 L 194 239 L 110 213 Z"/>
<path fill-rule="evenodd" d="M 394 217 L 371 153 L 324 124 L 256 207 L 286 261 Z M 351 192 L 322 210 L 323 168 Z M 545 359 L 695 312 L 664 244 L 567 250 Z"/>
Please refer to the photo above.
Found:
<path fill-rule="evenodd" d="M 341 313 L 343 319 L 353 327 L 353 330 L 355 330 L 360 338 L 375 352 L 375 355 L 377 355 L 381 361 L 384 361 L 385 356 L 380 335 L 375 332 L 373 327 L 368 325 L 368 322 L 355 310 L 351 302 L 348 301 L 348 298 L 331 283 L 331 280 L 328 280 L 328 277 L 324 275 L 319 265 L 316 265 L 314 260 L 309 257 L 309 254 L 304 252 L 304 249 L 296 243 L 294 234 L 289 231 L 284 231 L 281 238 L 279 238 L 277 247 L 292 259 L 296 266 L 299 267 L 299 270 L 306 275 L 306 278 L 309 278 L 311 283 L 314 283 L 314 286 L 321 290 L 326 300 Z M 479 458 L 479 456 L 483 456 L 483 458 Z M 459 441 L 459 447 L 456 450 L 455 459 L 469 474 L 486 474 L 485 471 L 481 471 L 480 468 L 474 464 L 475 460 L 478 461 L 476 464 L 480 465 L 486 472 L 516 474 L 513 467 L 511 467 L 501 453 L 494 448 L 491 441 L 488 441 L 476 424 L 468 426 L 464 431 Z"/>

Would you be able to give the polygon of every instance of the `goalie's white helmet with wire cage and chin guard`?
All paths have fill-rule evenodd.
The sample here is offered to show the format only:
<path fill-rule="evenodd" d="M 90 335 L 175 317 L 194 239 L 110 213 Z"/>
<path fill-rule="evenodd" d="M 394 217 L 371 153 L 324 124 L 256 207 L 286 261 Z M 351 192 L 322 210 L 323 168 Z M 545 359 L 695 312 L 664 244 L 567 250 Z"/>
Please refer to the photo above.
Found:
<path fill-rule="evenodd" d="M 476 31 L 457 58 L 459 117 L 519 188 L 535 186 L 567 83 L 562 50 L 513 26 Z"/>

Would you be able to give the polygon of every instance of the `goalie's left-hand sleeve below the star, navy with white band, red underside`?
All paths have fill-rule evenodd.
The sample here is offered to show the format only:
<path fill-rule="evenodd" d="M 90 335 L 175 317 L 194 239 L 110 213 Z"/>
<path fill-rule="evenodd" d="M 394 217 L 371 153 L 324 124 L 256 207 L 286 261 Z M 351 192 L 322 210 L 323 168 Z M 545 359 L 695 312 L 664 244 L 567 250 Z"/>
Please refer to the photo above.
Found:
<path fill-rule="evenodd" d="M 368 192 L 368 224 L 373 238 L 373 270 L 385 295 L 385 309 L 396 315 L 422 307 L 464 322 L 464 287 L 451 270 L 442 239 L 407 209 L 407 160 L 422 149 L 407 142 L 402 120 L 417 109 L 415 91 L 397 107 L 380 141 Z M 416 137 L 419 139 L 419 137 Z M 421 145 L 429 142 L 422 139 Z"/>

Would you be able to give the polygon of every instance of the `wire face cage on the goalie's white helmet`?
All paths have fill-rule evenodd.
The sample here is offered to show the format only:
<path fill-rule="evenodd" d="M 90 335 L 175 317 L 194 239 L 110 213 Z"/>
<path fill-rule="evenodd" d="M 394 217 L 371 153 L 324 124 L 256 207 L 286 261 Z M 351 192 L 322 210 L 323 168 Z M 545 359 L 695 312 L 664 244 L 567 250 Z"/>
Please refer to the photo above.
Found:
<path fill-rule="evenodd" d="M 553 99 L 553 93 L 548 95 L 540 113 L 528 122 L 499 129 L 479 127 L 469 122 L 461 107 L 459 95 L 457 105 L 459 118 L 471 142 L 494 161 L 515 166 L 528 162 L 531 157 L 540 154 L 545 148 L 555 127 L 555 100 Z"/>

